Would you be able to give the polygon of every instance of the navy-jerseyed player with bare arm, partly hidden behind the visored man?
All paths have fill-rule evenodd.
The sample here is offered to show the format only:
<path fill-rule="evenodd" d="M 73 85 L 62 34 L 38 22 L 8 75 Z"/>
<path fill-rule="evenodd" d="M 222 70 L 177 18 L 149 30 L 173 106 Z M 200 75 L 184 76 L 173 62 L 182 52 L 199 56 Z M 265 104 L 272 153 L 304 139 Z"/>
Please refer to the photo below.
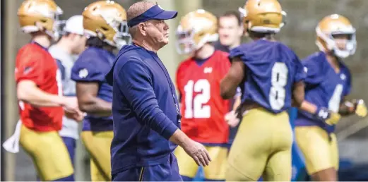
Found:
<path fill-rule="evenodd" d="M 129 42 L 126 11 L 114 1 L 96 1 L 82 13 L 88 35 L 87 49 L 72 68 L 76 95 L 83 119 L 82 140 L 91 156 L 92 181 L 111 181 L 112 86 L 105 75 L 112 67 L 112 51 Z"/>

